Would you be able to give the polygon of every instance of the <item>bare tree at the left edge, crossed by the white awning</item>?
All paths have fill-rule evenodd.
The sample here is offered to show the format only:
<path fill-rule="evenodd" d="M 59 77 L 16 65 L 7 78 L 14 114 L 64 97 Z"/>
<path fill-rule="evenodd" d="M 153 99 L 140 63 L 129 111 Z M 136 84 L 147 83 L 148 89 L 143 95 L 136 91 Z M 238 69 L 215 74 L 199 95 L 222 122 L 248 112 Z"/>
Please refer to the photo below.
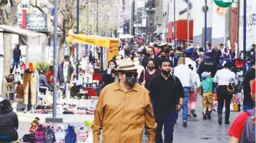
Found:
<path fill-rule="evenodd" d="M 21 0 L 0 0 L 0 12 L 2 14 L 2 23 L 12 26 Z M 8 7 L 11 9 L 9 15 Z M 4 33 L 4 73 L 2 78 L 2 96 L 7 93 L 5 76 L 10 73 L 11 68 L 11 34 Z"/>

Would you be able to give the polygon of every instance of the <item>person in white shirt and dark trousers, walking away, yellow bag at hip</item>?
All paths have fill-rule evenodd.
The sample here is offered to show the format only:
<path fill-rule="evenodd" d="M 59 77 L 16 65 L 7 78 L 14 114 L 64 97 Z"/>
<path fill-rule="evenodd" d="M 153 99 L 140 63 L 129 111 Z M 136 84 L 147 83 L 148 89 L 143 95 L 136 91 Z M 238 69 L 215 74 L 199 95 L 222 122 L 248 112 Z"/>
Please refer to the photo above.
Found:
<path fill-rule="evenodd" d="M 224 69 L 218 70 L 214 83 L 218 83 L 217 96 L 218 96 L 218 124 L 222 125 L 222 109 L 225 102 L 225 124 L 230 124 L 230 103 L 232 95 L 235 91 L 234 86 L 238 84 L 235 79 L 235 73 L 229 70 L 231 63 L 225 63 Z"/>

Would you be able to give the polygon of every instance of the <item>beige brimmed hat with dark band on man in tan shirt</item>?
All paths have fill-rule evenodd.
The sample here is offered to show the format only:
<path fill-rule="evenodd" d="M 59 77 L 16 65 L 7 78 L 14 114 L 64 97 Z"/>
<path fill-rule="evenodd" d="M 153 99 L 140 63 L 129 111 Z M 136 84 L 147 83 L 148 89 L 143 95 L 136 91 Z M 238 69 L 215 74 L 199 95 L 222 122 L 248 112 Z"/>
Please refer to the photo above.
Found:
<path fill-rule="evenodd" d="M 133 63 L 133 60 L 130 58 L 128 59 L 123 59 L 118 61 L 119 65 L 115 70 L 120 71 L 120 70 L 137 70 L 136 65 Z"/>

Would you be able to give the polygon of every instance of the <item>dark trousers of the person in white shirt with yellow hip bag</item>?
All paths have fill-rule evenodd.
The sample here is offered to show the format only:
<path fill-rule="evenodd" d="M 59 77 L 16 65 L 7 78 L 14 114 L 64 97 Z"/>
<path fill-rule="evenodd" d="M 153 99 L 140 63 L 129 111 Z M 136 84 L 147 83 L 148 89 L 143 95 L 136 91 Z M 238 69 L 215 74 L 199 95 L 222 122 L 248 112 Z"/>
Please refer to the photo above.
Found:
<path fill-rule="evenodd" d="M 227 86 L 218 86 L 218 115 L 222 115 L 222 109 L 225 101 L 225 121 L 229 121 L 230 116 L 230 103 L 232 94 L 228 92 Z"/>

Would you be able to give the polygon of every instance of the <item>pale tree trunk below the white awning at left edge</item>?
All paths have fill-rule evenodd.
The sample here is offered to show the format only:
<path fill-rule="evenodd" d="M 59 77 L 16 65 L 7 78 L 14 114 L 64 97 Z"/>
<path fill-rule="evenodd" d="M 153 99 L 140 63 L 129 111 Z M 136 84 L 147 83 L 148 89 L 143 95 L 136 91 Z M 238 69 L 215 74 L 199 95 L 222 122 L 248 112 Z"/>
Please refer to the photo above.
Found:
<path fill-rule="evenodd" d="M 5 76 L 10 74 L 11 68 L 11 34 L 4 34 L 4 71 L 2 78 L 2 96 L 7 93 Z"/>

